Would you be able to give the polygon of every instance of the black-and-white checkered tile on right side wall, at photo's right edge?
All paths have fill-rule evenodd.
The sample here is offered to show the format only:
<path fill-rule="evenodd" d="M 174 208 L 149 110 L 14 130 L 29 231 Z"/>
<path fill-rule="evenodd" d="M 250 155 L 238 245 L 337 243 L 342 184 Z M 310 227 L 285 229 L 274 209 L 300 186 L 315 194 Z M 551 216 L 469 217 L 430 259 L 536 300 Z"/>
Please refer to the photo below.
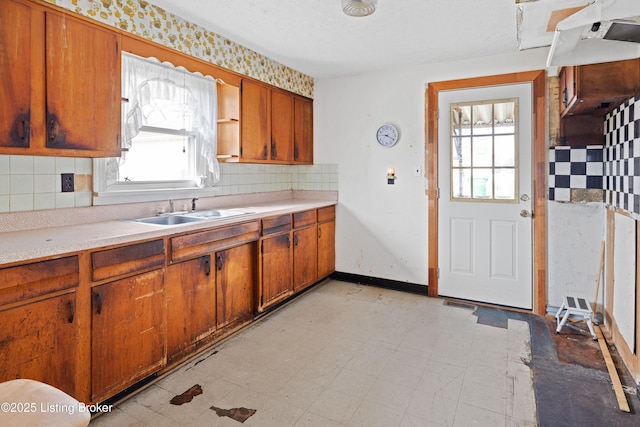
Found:
<path fill-rule="evenodd" d="M 605 202 L 640 219 L 640 95 L 607 115 L 604 136 Z"/>

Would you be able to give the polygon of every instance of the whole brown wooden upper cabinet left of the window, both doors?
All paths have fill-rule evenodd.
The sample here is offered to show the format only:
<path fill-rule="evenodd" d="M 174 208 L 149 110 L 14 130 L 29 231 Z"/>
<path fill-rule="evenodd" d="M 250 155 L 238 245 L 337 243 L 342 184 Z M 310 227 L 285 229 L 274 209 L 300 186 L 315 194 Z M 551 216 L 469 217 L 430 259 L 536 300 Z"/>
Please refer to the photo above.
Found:
<path fill-rule="evenodd" d="M 119 156 L 119 37 L 44 5 L 3 1 L 0 154 Z"/>

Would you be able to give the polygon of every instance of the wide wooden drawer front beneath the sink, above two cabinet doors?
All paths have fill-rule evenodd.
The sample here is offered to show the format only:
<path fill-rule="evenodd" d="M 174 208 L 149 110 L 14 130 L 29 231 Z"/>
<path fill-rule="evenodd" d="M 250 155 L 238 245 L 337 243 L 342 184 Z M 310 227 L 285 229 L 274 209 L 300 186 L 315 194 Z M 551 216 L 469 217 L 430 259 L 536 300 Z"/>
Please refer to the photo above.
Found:
<path fill-rule="evenodd" d="M 220 249 L 254 242 L 260 237 L 258 221 L 214 228 L 171 239 L 171 261 L 178 262 Z"/>

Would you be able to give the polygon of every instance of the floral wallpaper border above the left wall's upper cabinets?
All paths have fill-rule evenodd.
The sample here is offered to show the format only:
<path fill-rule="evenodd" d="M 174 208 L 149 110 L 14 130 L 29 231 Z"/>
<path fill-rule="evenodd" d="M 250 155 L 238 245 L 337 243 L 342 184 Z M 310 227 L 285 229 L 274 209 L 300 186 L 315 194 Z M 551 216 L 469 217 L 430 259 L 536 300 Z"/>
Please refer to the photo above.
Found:
<path fill-rule="evenodd" d="M 313 98 L 313 78 L 145 0 L 41 0 L 273 86 Z"/>

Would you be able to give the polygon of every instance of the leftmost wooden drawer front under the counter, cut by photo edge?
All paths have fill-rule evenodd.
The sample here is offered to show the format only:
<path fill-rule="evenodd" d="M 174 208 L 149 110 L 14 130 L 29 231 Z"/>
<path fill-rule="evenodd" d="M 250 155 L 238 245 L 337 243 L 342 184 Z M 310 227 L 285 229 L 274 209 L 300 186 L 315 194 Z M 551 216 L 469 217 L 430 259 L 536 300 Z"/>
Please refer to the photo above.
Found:
<path fill-rule="evenodd" d="M 0 305 L 73 288 L 79 283 L 78 257 L 0 269 Z"/>

